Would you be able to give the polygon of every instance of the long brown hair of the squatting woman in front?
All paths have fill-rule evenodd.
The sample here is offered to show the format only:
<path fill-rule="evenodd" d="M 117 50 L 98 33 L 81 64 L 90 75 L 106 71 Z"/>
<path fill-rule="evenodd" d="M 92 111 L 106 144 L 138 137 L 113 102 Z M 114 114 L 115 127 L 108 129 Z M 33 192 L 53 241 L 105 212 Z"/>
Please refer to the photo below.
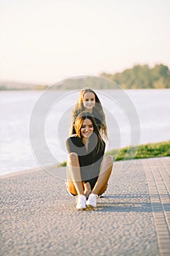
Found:
<path fill-rule="evenodd" d="M 97 124 L 96 124 L 96 121 L 95 121 L 95 118 L 93 117 L 93 115 L 89 112 L 86 112 L 86 111 L 82 111 L 76 118 L 75 122 L 74 122 L 74 129 L 77 133 L 77 136 L 79 138 L 82 139 L 82 136 L 81 136 L 81 128 L 82 128 L 82 124 L 83 124 L 83 121 L 85 119 L 90 119 L 90 121 L 92 122 L 93 124 L 93 132 L 95 133 L 96 136 L 93 136 L 93 134 L 90 136 L 90 139 L 89 141 L 93 143 L 93 145 L 96 145 L 96 154 L 101 151 L 101 149 L 104 148 L 104 141 L 102 140 L 101 138 L 101 135 L 100 135 L 100 132 L 98 130 L 98 127 L 97 127 Z"/>

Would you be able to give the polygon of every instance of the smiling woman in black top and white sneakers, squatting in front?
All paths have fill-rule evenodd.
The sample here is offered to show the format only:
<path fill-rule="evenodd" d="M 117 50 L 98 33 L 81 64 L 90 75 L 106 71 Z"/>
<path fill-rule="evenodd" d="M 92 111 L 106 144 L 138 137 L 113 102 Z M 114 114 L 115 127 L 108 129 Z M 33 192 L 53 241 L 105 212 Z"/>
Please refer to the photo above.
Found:
<path fill-rule="evenodd" d="M 103 157 L 105 143 L 91 113 L 80 113 L 74 122 L 74 129 L 77 136 L 66 140 L 69 152 L 68 190 L 78 196 L 77 209 L 96 207 L 98 195 L 107 189 L 113 159 L 111 156 Z"/>

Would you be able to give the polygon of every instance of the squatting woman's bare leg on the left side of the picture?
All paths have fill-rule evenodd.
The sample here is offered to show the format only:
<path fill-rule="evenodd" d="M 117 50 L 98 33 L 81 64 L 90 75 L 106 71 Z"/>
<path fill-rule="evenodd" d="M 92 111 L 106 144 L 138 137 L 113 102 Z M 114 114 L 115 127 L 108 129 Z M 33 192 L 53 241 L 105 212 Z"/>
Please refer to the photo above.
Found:
<path fill-rule="evenodd" d="M 79 159 L 76 153 L 70 153 L 67 162 L 67 184 L 69 192 L 84 195 L 84 186 L 80 173 Z"/>

